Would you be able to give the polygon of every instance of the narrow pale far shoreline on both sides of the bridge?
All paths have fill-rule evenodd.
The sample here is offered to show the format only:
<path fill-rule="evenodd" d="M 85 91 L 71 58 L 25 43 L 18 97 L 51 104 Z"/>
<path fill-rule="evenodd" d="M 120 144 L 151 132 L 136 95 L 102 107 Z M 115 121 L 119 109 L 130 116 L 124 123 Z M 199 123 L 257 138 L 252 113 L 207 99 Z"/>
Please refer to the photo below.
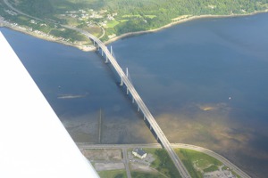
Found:
<path fill-rule="evenodd" d="M 188 21 L 191 21 L 191 20 L 209 19 L 209 18 L 218 19 L 218 18 L 245 17 L 245 16 L 252 16 L 252 15 L 255 15 L 255 14 L 267 13 L 267 12 L 268 12 L 268 9 L 266 9 L 264 11 L 260 11 L 260 12 L 251 12 L 251 13 L 247 13 L 247 14 L 232 14 L 232 15 L 206 14 L 206 15 L 198 15 L 198 16 L 188 16 L 187 18 L 184 18 L 184 19 L 172 21 L 171 23 L 166 24 L 166 25 L 164 25 L 163 27 L 160 27 L 160 28 L 137 31 L 137 32 L 129 32 L 129 33 L 122 34 L 120 36 L 115 36 L 115 37 L 105 41 L 104 44 L 111 44 L 111 43 L 113 43 L 113 42 L 115 42 L 117 40 L 120 40 L 122 38 L 125 38 L 125 37 L 138 36 L 138 35 L 147 34 L 147 33 L 155 33 L 157 31 L 161 31 L 161 30 L 163 30 L 165 28 L 170 28 L 172 26 L 178 25 L 180 23 L 188 22 Z M 28 31 L 28 30 L 23 30 L 21 28 L 15 28 L 15 27 L 11 27 L 11 26 L 6 26 L 6 25 L 1 24 L 1 23 L 0 23 L 0 28 L 10 28 L 10 29 L 13 29 L 15 31 L 19 31 L 19 32 L 21 32 L 23 34 L 29 35 L 29 36 L 38 37 L 39 39 L 43 39 L 43 40 L 58 43 L 58 44 L 72 46 L 72 47 L 80 49 L 83 52 L 94 52 L 94 51 L 96 51 L 96 47 L 94 45 L 85 46 L 85 45 L 80 45 L 80 44 L 71 44 L 71 43 L 64 42 L 62 40 L 57 40 L 57 39 L 54 39 L 54 38 L 51 38 L 51 37 L 40 36 L 38 34 L 35 34 L 34 32 L 31 32 L 31 31 Z"/>

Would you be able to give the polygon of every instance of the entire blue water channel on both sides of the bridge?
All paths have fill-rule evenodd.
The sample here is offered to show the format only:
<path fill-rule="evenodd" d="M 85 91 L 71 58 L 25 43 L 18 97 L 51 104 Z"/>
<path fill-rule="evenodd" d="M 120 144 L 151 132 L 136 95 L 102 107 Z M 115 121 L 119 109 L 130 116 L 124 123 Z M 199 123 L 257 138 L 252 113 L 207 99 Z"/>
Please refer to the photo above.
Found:
<path fill-rule="evenodd" d="M 99 109 L 101 142 L 155 142 L 99 55 L 1 30 L 76 142 L 98 142 Z M 113 51 L 171 142 L 216 150 L 265 177 L 267 31 L 267 13 L 193 20 L 122 39 Z"/>

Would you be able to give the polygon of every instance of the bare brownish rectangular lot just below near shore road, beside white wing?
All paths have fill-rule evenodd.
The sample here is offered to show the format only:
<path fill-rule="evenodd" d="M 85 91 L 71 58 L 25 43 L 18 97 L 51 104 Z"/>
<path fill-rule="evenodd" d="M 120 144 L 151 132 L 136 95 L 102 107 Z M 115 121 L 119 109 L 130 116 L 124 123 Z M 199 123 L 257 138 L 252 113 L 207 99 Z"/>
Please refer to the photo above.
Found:
<path fill-rule="evenodd" d="M 121 161 L 120 149 L 87 149 L 81 150 L 88 160 L 101 161 Z"/>

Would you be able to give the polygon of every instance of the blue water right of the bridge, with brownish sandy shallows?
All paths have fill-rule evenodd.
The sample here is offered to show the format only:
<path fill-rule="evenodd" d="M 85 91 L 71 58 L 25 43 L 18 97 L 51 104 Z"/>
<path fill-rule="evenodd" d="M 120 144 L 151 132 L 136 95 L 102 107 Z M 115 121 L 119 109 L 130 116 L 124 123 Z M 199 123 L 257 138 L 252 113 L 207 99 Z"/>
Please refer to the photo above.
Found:
<path fill-rule="evenodd" d="M 267 13 L 194 20 L 113 49 L 171 142 L 220 151 L 261 177 L 268 170 L 267 32 Z"/>

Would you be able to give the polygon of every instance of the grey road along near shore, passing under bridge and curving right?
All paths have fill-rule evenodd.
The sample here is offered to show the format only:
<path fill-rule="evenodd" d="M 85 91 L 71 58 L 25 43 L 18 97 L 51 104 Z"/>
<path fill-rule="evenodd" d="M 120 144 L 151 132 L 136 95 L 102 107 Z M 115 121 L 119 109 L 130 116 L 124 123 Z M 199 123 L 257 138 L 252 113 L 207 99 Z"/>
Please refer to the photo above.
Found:
<path fill-rule="evenodd" d="M 77 143 L 80 149 L 134 149 L 134 148 L 162 148 L 159 143 L 152 144 L 88 144 L 88 143 Z M 199 152 L 203 152 L 213 158 L 221 161 L 225 166 L 229 166 L 231 170 L 233 170 L 236 174 L 239 174 L 241 178 L 250 178 L 248 174 L 239 169 L 238 166 L 232 164 L 227 158 L 222 157 L 218 153 L 213 150 L 207 150 L 202 147 L 198 147 L 195 145 L 183 144 L 183 143 L 172 143 L 172 148 L 180 148 L 180 149 L 189 149 L 189 150 L 197 150 Z"/>

